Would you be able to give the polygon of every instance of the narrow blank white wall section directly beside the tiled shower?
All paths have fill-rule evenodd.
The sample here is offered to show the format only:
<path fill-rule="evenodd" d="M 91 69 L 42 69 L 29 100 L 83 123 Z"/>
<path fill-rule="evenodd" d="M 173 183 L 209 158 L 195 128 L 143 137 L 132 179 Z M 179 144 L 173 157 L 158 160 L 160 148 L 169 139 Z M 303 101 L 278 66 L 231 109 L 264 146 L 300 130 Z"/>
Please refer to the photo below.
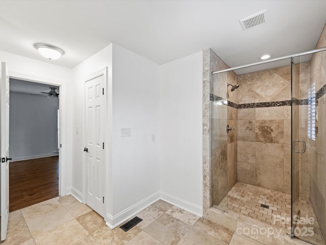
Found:
<path fill-rule="evenodd" d="M 202 215 L 202 52 L 160 67 L 162 199 Z"/>

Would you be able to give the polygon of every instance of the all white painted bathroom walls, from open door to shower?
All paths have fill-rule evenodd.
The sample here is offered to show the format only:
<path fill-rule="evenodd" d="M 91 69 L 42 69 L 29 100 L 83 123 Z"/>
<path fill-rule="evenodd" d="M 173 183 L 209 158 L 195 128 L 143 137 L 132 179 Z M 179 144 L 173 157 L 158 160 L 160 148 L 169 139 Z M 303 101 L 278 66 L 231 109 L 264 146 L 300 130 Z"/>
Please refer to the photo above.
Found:
<path fill-rule="evenodd" d="M 0 57 L 14 78 L 62 84 L 66 184 L 68 192 L 80 199 L 84 82 L 108 67 L 107 132 L 111 141 L 107 144 L 105 200 L 109 226 L 117 226 L 160 197 L 201 215 L 202 52 L 158 65 L 110 44 L 73 69 L 1 51 Z M 131 136 L 120 137 L 121 128 L 130 128 Z"/>

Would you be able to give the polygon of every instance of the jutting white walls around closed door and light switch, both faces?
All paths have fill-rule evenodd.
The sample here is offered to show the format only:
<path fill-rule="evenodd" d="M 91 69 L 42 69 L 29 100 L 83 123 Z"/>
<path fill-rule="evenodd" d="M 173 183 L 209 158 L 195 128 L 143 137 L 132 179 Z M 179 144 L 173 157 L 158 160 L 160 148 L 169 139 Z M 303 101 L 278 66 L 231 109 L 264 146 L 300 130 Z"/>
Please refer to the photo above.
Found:
<path fill-rule="evenodd" d="M 95 71 L 108 67 L 108 169 L 106 221 L 114 227 L 159 198 L 158 90 L 159 65 L 125 48 L 110 44 L 73 68 L 72 187 L 83 192 L 84 81 Z M 76 134 L 76 127 L 79 133 Z M 120 137 L 130 128 L 130 137 Z M 156 194 L 156 195 L 155 195 Z"/>

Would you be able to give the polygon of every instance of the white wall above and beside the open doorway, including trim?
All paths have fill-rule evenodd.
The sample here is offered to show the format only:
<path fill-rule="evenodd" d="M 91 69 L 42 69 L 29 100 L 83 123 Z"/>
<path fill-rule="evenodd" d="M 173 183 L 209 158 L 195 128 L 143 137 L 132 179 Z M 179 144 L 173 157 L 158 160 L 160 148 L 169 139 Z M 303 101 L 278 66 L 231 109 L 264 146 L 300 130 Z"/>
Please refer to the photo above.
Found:
<path fill-rule="evenodd" d="M 61 195 L 65 195 L 67 186 L 71 186 L 71 165 L 70 165 L 70 139 L 68 132 L 71 131 L 70 120 L 70 96 L 67 96 L 67 84 L 72 80 L 70 68 L 53 65 L 39 60 L 33 60 L 23 56 L 0 51 L 0 61 L 6 62 L 9 70 L 9 77 L 20 80 L 53 84 L 60 86 L 60 108 L 61 108 Z"/>

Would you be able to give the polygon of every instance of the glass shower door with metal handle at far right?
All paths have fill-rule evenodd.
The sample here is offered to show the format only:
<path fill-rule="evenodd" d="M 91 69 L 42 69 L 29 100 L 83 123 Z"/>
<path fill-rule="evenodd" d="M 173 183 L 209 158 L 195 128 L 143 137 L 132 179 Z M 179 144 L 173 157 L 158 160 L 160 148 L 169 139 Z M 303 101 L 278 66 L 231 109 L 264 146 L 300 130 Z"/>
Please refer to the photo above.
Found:
<path fill-rule="evenodd" d="M 324 245 L 326 236 L 326 52 L 292 62 L 291 235 Z"/>

